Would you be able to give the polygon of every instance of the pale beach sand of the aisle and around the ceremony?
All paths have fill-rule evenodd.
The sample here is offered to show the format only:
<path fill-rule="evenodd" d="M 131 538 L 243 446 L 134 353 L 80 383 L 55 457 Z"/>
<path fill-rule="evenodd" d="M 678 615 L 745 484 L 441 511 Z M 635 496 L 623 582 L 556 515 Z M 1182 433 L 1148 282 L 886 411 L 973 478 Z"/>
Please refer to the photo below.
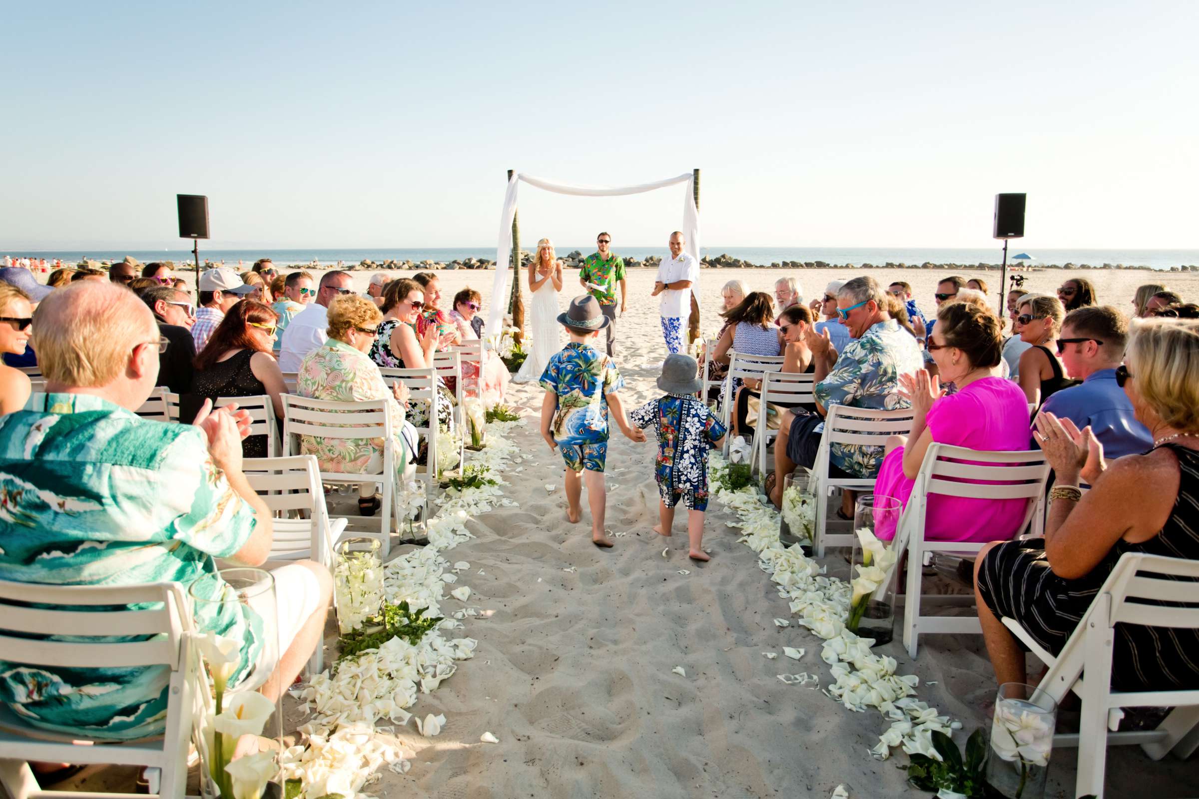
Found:
<path fill-rule="evenodd" d="M 724 280 L 740 278 L 751 289 L 769 290 L 782 273 L 705 271 L 704 329 L 716 327 L 712 311 Z M 617 328 L 626 407 L 656 395 L 653 379 L 664 355 L 656 307 L 647 298 L 652 274 L 631 276 L 631 310 Z M 911 270 L 875 274 L 912 283 L 922 304 L 936 279 Z M 355 277 L 364 284 L 361 273 Z M 482 291 L 486 307 L 492 277 L 446 272 L 442 291 L 452 295 L 470 284 Z M 801 274 L 805 296 L 833 277 L 832 271 Z M 1102 298 L 1120 305 L 1151 277 L 1167 277 L 1185 296 L 1199 287 L 1199 276 L 1090 277 L 1098 278 Z M 1030 284 L 1050 290 L 1062 278 L 1037 273 Z M 564 305 L 574 279 L 567 274 Z M 447 552 L 450 561 L 471 564 L 458 583 L 470 586 L 469 604 L 495 611 L 488 619 L 466 619 L 459 634 L 478 638 L 477 655 L 414 708 L 421 715 L 444 712 L 448 725 L 433 740 L 415 730 L 402 734 L 416 752 L 412 769 L 404 776 L 384 773 L 373 792 L 439 799 L 829 797 L 844 783 L 851 797 L 916 795 L 898 768 L 905 755 L 876 762 L 867 752 L 886 727 L 881 716 L 850 713 L 819 690 L 777 679 L 808 671 L 826 685 L 829 670 L 818 638 L 775 627 L 775 617 L 789 616 L 787 603 L 725 526 L 731 514 L 715 503 L 707 514 L 707 564 L 687 559 L 682 517 L 669 540 L 651 532 L 657 522 L 652 443 L 637 444 L 619 432 L 610 443 L 605 527 L 626 533 L 613 550 L 590 543 L 586 496 L 582 523 L 566 520 L 560 458 L 537 435 L 540 397 L 529 386 L 510 393 L 512 405 L 526 408 L 519 442 L 534 453 L 523 472 L 507 478 L 520 507 L 476 519 L 470 527 L 477 538 Z M 547 494 L 547 484 L 556 484 L 553 492 Z M 576 573 L 564 571 L 572 567 Z M 459 605 L 447 599 L 444 609 Z M 801 661 L 789 661 L 784 646 L 807 652 Z M 989 724 L 986 707 L 995 685 L 981 636 L 922 637 L 915 662 L 898 641 L 882 650 L 898 659 L 900 673 L 936 683 L 922 684 L 920 696 L 963 721 L 960 740 Z M 779 658 L 767 660 L 764 652 Z M 686 677 L 673 673 L 675 666 Z M 484 731 L 500 743 L 480 744 Z M 1072 750 L 1055 752 L 1048 795 L 1073 795 L 1073 764 Z M 1113 749 L 1108 795 L 1149 785 L 1162 799 L 1192 795 L 1193 768 L 1174 759 L 1153 763 L 1139 747 Z"/>

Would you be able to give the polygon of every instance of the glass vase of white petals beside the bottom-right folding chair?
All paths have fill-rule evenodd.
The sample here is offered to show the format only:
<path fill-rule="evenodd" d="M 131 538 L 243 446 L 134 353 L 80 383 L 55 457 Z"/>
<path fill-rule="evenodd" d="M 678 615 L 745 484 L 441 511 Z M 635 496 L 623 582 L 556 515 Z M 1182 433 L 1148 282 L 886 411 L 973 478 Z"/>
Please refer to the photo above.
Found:
<path fill-rule="evenodd" d="M 995 696 L 987 782 L 996 795 L 1041 799 L 1046 793 L 1058 703 L 1024 683 L 1004 683 Z"/>

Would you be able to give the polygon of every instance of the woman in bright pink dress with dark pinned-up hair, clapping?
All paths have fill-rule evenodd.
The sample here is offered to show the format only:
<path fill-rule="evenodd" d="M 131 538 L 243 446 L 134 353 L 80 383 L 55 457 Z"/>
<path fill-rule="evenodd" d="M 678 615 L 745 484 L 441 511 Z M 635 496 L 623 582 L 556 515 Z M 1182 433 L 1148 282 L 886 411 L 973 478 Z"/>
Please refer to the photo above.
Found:
<path fill-rule="evenodd" d="M 938 377 L 921 369 L 899 376 L 899 392 L 911 400 L 915 417 L 908 436 L 892 436 L 874 482 L 875 495 L 908 506 L 911 489 L 932 443 L 990 452 L 1029 448 L 1029 405 L 1024 392 L 999 377 L 1002 325 L 989 311 L 954 302 L 941 305 L 928 350 L 940 379 L 958 391 L 946 394 Z M 1012 538 L 1024 520 L 1024 500 L 975 500 L 930 495 L 924 538 L 939 541 L 995 541 Z M 880 525 L 879 538 L 894 535 Z"/>

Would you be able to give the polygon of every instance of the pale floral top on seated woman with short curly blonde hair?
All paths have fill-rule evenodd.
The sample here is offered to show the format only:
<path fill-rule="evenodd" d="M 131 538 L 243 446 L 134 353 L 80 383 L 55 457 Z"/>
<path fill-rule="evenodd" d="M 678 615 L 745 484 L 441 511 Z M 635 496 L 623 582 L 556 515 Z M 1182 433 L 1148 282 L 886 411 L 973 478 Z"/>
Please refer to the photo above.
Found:
<path fill-rule="evenodd" d="M 379 367 L 344 341 L 327 339 L 305 356 L 296 374 L 296 394 L 335 402 L 387 400 L 392 440 L 396 443 L 396 474 L 402 478 L 416 452 L 416 430 L 404 420 L 404 408 L 396 401 Z M 382 466 L 379 438 L 324 438 L 300 436 L 300 452 L 315 455 L 323 472 L 375 472 Z"/>

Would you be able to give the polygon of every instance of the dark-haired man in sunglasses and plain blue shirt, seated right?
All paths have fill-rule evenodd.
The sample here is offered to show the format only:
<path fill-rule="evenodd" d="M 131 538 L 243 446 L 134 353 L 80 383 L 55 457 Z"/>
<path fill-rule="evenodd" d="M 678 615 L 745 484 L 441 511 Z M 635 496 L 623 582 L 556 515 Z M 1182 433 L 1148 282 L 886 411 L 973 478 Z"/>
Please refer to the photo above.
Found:
<path fill-rule="evenodd" d="M 1139 455 L 1153 446 L 1133 414 L 1128 395 L 1116 385 L 1116 367 L 1123 361 L 1128 322 L 1111 305 L 1084 305 L 1066 315 L 1058 352 L 1066 374 L 1081 380 L 1044 401 L 1041 410 L 1090 428 L 1109 458 Z M 1036 441 L 1034 436 L 1034 441 Z"/>

